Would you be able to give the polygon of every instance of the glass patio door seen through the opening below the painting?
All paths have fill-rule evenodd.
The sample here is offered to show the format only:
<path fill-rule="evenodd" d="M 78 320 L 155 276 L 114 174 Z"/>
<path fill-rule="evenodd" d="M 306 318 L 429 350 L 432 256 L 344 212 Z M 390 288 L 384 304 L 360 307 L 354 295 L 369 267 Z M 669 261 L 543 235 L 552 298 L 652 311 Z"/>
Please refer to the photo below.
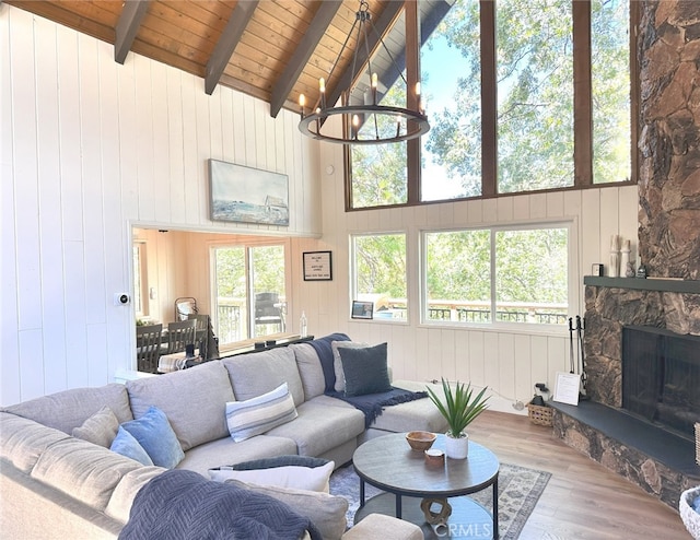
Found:
<path fill-rule="evenodd" d="M 284 332 L 284 246 L 221 246 L 212 256 L 212 322 L 220 345 Z"/>

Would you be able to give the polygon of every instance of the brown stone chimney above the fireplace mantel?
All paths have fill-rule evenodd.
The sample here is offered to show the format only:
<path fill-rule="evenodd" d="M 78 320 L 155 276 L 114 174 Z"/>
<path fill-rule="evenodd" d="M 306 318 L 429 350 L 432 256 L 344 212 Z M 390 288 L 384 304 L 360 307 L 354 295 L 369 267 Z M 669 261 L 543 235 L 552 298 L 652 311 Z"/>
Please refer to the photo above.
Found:
<path fill-rule="evenodd" d="M 700 2 L 645 1 L 640 36 L 639 253 L 700 279 Z"/>

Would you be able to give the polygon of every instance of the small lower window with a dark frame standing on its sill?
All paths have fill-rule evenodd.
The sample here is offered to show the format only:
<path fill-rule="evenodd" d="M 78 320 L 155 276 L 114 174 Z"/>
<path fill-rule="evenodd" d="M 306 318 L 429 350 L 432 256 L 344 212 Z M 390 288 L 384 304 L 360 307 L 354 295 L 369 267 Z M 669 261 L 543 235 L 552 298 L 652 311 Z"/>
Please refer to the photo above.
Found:
<path fill-rule="evenodd" d="M 350 237 L 352 300 L 373 302 L 375 319 L 407 318 L 406 235 Z"/>

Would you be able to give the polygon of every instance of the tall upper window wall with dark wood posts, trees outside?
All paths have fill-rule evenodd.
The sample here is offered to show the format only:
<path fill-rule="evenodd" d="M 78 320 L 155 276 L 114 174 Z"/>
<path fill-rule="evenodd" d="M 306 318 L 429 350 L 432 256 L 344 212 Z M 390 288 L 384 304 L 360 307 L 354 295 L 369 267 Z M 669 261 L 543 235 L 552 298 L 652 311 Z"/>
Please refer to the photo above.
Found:
<path fill-rule="evenodd" d="M 420 55 L 431 130 L 420 144 L 349 145 L 347 207 L 630 180 L 632 5 L 456 0 L 423 13 L 420 51 L 406 39 L 406 54 Z M 405 103 L 399 84 L 383 104 Z"/>

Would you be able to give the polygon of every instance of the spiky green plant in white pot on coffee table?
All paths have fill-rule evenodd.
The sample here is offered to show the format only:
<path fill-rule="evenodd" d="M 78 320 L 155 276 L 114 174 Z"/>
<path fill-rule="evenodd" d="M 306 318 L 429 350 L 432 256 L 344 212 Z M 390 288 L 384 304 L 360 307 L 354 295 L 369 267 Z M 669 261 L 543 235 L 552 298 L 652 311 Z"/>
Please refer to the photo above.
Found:
<path fill-rule="evenodd" d="M 448 458 L 465 459 L 469 454 L 469 437 L 465 433 L 465 429 L 488 409 L 486 402 L 490 396 L 485 397 L 486 390 L 487 388 L 485 387 L 472 398 L 474 390 L 470 384 L 465 385 L 457 381 L 453 388 L 443 378 L 442 391 L 444 400 L 441 400 L 435 391 L 428 387 L 428 396 L 447 421 L 445 454 Z"/>

